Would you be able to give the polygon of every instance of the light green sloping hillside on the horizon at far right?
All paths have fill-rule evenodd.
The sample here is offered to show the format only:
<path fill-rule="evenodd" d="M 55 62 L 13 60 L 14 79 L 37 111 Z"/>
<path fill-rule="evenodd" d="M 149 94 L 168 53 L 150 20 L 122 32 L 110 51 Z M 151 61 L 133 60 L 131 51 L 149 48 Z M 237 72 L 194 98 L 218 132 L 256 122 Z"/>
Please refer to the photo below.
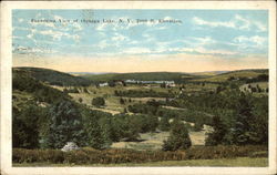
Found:
<path fill-rule="evenodd" d="M 220 73 L 217 75 L 211 75 L 204 79 L 195 79 L 193 81 L 206 81 L 206 82 L 224 82 L 229 79 L 256 79 L 259 75 L 266 74 L 268 75 L 267 69 L 260 70 L 238 70 L 238 71 L 230 71 L 226 73 Z"/>

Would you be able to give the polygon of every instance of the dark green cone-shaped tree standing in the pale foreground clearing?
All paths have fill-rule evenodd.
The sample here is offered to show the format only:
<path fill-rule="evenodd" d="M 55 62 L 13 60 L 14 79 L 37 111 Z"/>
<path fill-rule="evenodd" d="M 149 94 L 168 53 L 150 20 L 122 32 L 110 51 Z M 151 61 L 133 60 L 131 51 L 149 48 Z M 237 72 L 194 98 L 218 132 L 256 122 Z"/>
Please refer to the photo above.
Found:
<path fill-rule="evenodd" d="M 164 141 L 163 151 L 186 150 L 192 146 L 192 141 L 185 124 L 175 119 L 171 126 L 170 137 Z"/>

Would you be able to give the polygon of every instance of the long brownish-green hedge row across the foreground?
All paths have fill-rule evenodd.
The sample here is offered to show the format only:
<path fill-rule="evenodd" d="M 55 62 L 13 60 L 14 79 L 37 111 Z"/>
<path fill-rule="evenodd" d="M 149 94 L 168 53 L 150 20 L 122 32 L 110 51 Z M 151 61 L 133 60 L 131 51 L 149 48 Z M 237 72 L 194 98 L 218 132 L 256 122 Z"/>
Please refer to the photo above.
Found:
<path fill-rule="evenodd" d="M 74 163 L 74 164 L 116 164 L 144 163 L 156 161 L 212 159 L 238 156 L 267 156 L 265 146 L 197 146 L 186 151 L 98 151 L 84 147 L 80 151 L 62 152 L 59 150 L 12 150 L 13 163 Z"/>

